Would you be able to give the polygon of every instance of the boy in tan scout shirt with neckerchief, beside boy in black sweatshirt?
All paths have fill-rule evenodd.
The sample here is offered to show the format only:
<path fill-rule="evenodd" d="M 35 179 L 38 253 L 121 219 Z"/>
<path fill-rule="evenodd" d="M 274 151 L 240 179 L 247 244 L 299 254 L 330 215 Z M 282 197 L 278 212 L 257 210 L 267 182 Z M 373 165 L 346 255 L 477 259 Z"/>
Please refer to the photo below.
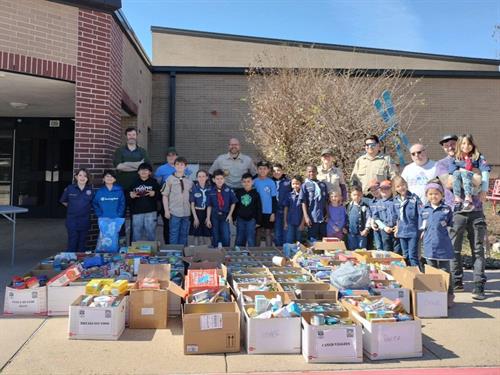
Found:
<path fill-rule="evenodd" d="M 161 190 L 165 218 L 169 220 L 172 245 L 187 246 L 188 244 L 189 216 L 191 215 L 189 192 L 193 187 L 193 182 L 184 174 L 186 166 L 185 158 L 179 156 L 175 159 L 175 173 L 167 178 Z"/>

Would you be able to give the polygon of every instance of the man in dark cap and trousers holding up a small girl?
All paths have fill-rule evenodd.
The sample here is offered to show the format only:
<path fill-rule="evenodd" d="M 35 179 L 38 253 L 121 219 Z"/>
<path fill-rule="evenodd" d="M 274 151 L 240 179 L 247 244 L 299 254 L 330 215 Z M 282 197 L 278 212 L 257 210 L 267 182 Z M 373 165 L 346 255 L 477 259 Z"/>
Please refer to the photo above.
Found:
<path fill-rule="evenodd" d="M 447 156 L 438 162 L 437 175 L 443 180 L 447 178 L 448 167 L 452 163 L 455 155 L 456 135 L 446 135 L 439 142 Z M 451 190 L 451 184 L 446 182 L 446 190 Z M 484 189 L 483 189 L 484 190 Z M 472 259 L 474 262 L 472 298 L 475 300 L 484 300 L 484 285 L 486 283 L 486 274 L 484 272 L 484 241 L 486 237 L 486 219 L 483 212 L 483 201 L 485 193 L 472 197 L 474 209 L 472 211 L 456 211 L 453 213 L 453 227 L 450 230 L 451 242 L 455 251 L 455 259 L 451 262 L 451 272 L 453 275 L 455 291 L 464 290 L 463 285 L 463 265 L 462 265 L 462 244 L 464 233 L 467 231 L 467 237 L 471 245 Z M 446 203 L 453 207 L 453 193 L 448 191 Z"/>

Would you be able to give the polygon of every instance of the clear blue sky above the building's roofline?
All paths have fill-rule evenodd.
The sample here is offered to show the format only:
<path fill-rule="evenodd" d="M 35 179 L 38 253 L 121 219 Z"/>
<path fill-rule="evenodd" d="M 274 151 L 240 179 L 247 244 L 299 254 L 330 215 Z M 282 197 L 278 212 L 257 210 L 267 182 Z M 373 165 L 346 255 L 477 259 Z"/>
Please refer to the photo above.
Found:
<path fill-rule="evenodd" d="M 151 26 L 500 59 L 500 0 L 122 0 L 151 57 Z M 500 26 L 499 26 L 500 27 Z"/>

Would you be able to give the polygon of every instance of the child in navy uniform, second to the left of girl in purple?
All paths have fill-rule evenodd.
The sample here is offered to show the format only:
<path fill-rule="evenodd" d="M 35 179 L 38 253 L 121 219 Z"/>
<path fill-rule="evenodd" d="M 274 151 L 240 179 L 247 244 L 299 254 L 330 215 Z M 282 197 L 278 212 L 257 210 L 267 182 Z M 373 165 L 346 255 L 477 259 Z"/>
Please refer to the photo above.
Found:
<path fill-rule="evenodd" d="M 304 214 L 302 212 L 302 203 L 300 201 L 301 185 L 301 176 L 295 176 L 292 178 L 292 191 L 290 191 L 288 197 L 283 202 L 285 206 L 284 229 L 286 231 L 286 243 L 295 243 L 302 239 L 302 231 L 304 230 Z"/>

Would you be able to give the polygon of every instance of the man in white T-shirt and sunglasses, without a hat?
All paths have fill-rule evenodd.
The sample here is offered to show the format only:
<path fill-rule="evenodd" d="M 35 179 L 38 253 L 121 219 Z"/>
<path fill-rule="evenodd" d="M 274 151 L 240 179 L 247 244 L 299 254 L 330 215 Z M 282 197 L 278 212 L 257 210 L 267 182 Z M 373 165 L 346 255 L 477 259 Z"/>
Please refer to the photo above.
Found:
<path fill-rule="evenodd" d="M 415 143 L 410 147 L 410 154 L 413 163 L 404 167 L 401 177 L 408 183 L 408 190 L 416 194 L 425 204 L 425 185 L 429 180 L 436 177 L 436 162 L 429 160 L 425 146 Z"/>

